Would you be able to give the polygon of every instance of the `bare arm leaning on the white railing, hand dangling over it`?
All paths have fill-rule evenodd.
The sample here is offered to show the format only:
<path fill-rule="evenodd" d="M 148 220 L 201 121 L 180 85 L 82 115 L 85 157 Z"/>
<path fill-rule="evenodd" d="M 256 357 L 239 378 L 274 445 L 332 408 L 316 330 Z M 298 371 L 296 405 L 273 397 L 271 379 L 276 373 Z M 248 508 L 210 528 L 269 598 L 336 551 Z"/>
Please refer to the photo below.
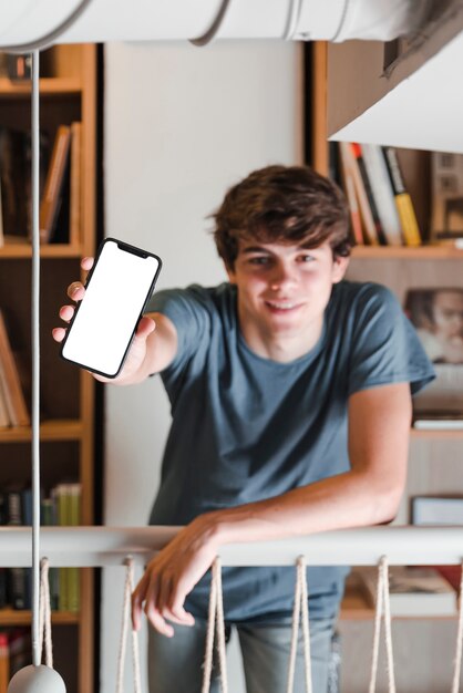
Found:
<path fill-rule="evenodd" d="M 411 423 L 408 383 L 354 393 L 349 401 L 351 469 L 281 496 L 199 516 L 148 563 L 133 596 L 153 625 L 173 634 L 165 619 L 188 624 L 184 601 L 220 546 L 279 539 L 388 523 L 397 514 L 407 477 Z"/>

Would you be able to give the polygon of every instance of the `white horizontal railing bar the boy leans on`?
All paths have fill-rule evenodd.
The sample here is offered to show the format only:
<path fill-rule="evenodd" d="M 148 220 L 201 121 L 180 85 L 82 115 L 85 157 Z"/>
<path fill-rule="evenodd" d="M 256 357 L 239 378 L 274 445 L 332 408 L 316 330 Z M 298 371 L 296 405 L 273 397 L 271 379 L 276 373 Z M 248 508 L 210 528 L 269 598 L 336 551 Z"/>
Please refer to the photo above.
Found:
<path fill-rule="evenodd" d="M 144 565 L 178 527 L 44 527 L 40 554 L 50 566 L 122 566 L 127 556 Z M 31 566 L 30 527 L 0 528 L 0 567 Z M 363 527 L 274 541 L 220 547 L 224 566 L 455 565 L 463 561 L 462 527 Z"/>

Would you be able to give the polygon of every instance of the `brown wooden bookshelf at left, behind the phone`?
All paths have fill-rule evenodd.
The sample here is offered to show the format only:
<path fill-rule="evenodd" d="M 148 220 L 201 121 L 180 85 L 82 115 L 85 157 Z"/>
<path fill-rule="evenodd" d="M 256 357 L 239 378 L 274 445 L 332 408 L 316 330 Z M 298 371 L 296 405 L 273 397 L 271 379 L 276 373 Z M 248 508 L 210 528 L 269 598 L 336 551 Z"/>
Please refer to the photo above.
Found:
<path fill-rule="evenodd" d="M 78 482 L 82 488 L 81 524 L 92 525 L 94 381 L 60 359 L 51 329 L 56 324 L 65 287 L 80 276 L 80 258 L 95 249 L 96 46 L 59 45 L 43 52 L 40 89 L 41 130 L 49 143 L 61 124 L 82 123 L 79 228 L 74 234 L 60 229 L 60 242 L 41 246 L 42 482 L 45 489 L 61 482 Z M 29 83 L 0 77 L 0 127 L 29 131 Z M 31 362 L 31 255 L 25 229 L 18 238 L 6 238 L 0 247 L 0 309 L 12 349 L 22 363 L 25 392 Z M 28 426 L 0 428 L 0 489 L 30 484 L 30 441 Z M 94 683 L 94 578 L 90 569 L 81 571 L 80 588 L 78 612 L 52 614 L 55 668 L 69 693 L 91 693 Z M 30 611 L 0 609 L 1 629 L 30 621 Z"/>

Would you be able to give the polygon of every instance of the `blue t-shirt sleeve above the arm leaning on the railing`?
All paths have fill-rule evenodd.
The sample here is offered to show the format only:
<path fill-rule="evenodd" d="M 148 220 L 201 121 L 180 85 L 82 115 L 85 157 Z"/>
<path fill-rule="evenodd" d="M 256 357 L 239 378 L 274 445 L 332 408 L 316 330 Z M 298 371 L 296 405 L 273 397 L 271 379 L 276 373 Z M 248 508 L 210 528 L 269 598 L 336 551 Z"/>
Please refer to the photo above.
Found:
<path fill-rule="evenodd" d="M 416 332 L 389 289 L 368 285 L 354 308 L 349 395 L 409 382 L 412 394 L 434 377 Z"/>

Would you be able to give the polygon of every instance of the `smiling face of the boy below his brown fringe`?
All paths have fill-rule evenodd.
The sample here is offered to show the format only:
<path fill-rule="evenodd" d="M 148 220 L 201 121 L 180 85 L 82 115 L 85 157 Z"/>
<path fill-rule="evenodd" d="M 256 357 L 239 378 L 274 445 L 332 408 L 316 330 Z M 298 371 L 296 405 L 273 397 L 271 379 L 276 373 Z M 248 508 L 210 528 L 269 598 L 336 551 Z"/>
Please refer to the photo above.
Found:
<path fill-rule="evenodd" d="M 348 258 L 333 259 L 328 241 L 306 249 L 286 244 L 241 241 L 235 268 L 241 330 L 265 339 L 307 338 L 321 330 L 333 283 L 344 276 Z"/>

